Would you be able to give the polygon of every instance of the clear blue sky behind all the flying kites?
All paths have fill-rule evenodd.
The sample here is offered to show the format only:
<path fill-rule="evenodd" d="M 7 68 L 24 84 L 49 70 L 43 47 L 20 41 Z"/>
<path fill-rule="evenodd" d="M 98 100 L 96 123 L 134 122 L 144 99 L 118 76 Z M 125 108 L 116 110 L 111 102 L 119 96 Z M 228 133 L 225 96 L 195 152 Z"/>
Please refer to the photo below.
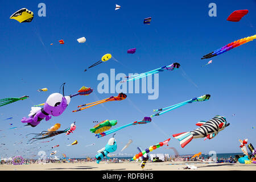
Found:
<path fill-rule="evenodd" d="M 55 123 L 61 123 L 64 130 L 76 121 L 73 134 L 58 135 L 49 143 L 34 144 L 37 155 L 40 150 L 50 154 L 51 147 L 59 154 L 81 158 L 94 155 L 105 146 L 111 135 L 100 139 L 89 129 L 93 121 L 117 119 L 115 127 L 126 125 L 145 116 L 153 109 L 166 107 L 189 100 L 203 94 L 211 94 L 209 101 L 185 105 L 159 117 L 152 123 L 130 126 L 115 135 L 118 149 L 132 139 L 134 142 L 122 153 L 136 154 L 137 147 L 143 149 L 170 138 L 172 134 L 196 129 L 201 120 L 214 115 L 224 115 L 230 126 L 216 138 L 204 141 L 193 139 L 185 148 L 171 137 L 169 146 L 180 154 L 196 154 L 209 151 L 217 153 L 241 152 L 238 139 L 248 138 L 256 146 L 255 129 L 255 40 L 213 57 L 213 63 L 201 68 L 209 60 L 201 56 L 212 52 L 235 40 L 255 35 L 255 1 L 44 1 L 46 17 L 38 16 L 38 4 L 42 1 L 4 1 L 0 11 L 0 67 L 1 98 L 30 96 L 27 100 L 0 108 L 1 143 L 8 150 L 1 150 L 1 156 L 17 155 L 20 148 L 26 150 L 25 134 L 40 133 Z M 217 5 L 217 16 L 210 17 L 209 3 Z M 115 11 L 115 4 L 121 9 Z M 31 23 L 19 23 L 9 19 L 15 11 L 26 7 L 34 12 Z M 235 10 L 249 10 L 240 22 L 228 22 L 226 18 Z M 151 24 L 143 24 L 143 19 L 151 16 Z M 86 43 L 76 39 L 85 36 Z M 60 45 L 63 39 L 65 44 Z M 53 43 L 52 46 L 50 44 Z M 127 54 L 127 49 L 137 48 L 135 54 Z M 113 59 L 97 67 L 84 69 L 95 63 L 105 53 Z M 127 94 L 124 101 L 108 102 L 89 109 L 72 113 L 78 105 L 117 96 L 100 94 L 97 85 L 100 73 L 142 73 L 178 62 L 182 69 L 159 74 L 159 98 L 148 100 L 148 94 Z M 187 75 L 187 76 L 184 76 Z M 90 86 L 94 92 L 89 96 L 72 98 L 71 104 L 59 117 L 42 121 L 35 128 L 23 127 L 22 117 L 27 117 L 33 105 L 46 101 L 51 93 L 59 92 L 66 82 L 65 94 L 74 94 L 81 86 Z M 115 82 L 117 84 L 118 81 Z M 196 85 L 196 86 L 195 86 Z M 40 88 L 47 92 L 36 92 Z M 129 98 L 129 99 L 128 99 Z M 236 114 L 232 116 L 232 114 Z M 3 119 L 13 117 L 10 121 Z M 8 130 L 9 123 L 19 130 Z M 113 129 L 115 128 L 113 127 Z M 19 136 L 19 134 L 22 134 Z M 6 137 L 3 137 L 6 136 Z M 68 139 L 69 138 L 69 139 Z M 76 146 L 67 146 L 74 140 Z M 23 144 L 14 146 L 16 141 Z M 42 140 L 41 140 L 42 141 Z M 91 143 L 94 146 L 85 147 Z M 39 149 L 39 147 L 41 147 Z M 158 148 L 154 153 L 172 151 Z M 15 153 L 15 151 L 18 152 Z"/>

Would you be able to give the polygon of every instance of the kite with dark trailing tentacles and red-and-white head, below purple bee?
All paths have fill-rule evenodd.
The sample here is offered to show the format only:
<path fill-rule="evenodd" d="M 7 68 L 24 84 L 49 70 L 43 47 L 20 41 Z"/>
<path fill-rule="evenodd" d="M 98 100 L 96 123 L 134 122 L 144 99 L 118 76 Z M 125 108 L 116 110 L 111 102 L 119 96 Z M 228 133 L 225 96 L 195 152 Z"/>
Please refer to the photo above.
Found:
<path fill-rule="evenodd" d="M 76 128 L 74 126 L 76 122 L 72 123 L 71 124 L 71 127 L 65 129 L 65 130 L 62 130 L 62 131 L 42 131 L 41 133 L 39 134 L 36 134 L 36 133 L 31 133 L 31 134 L 34 134 L 35 137 L 28 140 L 28 142 L 30 142 L 31 140 L 33 140 L 31 143 L 35 142 L 36 140 L 42 140 L 42 139 L 46 139 L 46 138 L 51 138 L 51 137 L 54 137 L 56 135 L 59 135 L 59 134 L 63 134 L 63 133 L 68 133 L 69 130 L 73 130 Z M 31 134 L 28 134 L 28 135 L 31 135 Z M 67 135 L 67 134 L 66 134 Z M 27 136 L 27 135 L 26 135 Z"/>

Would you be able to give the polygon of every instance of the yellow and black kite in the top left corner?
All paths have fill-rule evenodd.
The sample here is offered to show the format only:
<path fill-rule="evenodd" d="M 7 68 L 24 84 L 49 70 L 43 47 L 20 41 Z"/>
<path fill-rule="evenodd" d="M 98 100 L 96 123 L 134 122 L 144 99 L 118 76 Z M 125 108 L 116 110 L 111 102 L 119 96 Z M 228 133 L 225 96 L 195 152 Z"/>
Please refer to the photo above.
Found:
<path fill-rule="evenodd" d="M 10 16 L 10 19 L 15 19 L 19 23 L 31 22 L 33 18 L 34 13 L 26 8 L 20 9 Z"/>

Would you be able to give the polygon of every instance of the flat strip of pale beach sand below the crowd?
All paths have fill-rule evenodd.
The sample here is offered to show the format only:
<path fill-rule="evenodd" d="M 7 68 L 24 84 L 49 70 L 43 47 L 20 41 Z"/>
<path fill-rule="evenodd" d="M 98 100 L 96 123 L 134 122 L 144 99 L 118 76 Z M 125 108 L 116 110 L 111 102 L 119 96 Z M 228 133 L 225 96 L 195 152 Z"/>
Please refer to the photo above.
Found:
<path fill-rule="evenodd" d="M 20 166 L 0 165 L 0 171 L 256 171 L 256 164 L 203 163 L 203 162 L 162 162 L 146 163 L 142 169 L 137 162 L 81 162 L 81 163 L 40 163 Z M 186 164 L 197 169 L 184 169 Z"/>

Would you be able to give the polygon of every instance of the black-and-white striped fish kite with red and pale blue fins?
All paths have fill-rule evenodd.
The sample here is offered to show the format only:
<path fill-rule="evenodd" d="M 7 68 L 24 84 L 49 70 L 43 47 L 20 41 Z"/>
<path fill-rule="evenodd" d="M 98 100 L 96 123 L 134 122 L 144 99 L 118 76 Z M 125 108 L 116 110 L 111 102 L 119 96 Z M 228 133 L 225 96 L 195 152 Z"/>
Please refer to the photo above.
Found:
<path fill-rule="evenodd" d="M 230 123 L 226 122 L 226 118 L 220 115 L 216 115 L 209 121 L 200 121 L 196 124 L 200 126 L 198 129 L 172 135 L 174 138 L 180 141 L 181 147 L 185 147 L 193 138 L 208 138 L 212 139 L 216 135 L 229 126 Z"/>

